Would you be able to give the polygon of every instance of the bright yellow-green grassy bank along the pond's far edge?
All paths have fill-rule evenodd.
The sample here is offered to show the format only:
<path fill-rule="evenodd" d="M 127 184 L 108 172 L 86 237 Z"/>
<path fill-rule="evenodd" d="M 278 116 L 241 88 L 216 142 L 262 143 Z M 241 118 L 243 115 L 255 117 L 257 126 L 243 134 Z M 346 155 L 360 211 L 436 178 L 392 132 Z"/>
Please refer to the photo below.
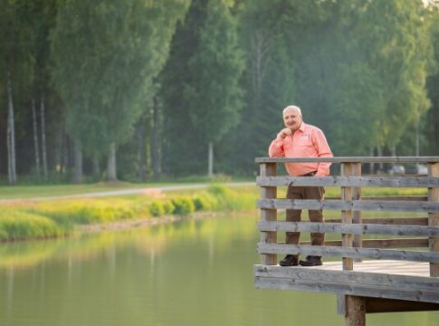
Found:
<path fill-rule="evenodd" d="M 211 186 L 206 189 L 143 196 L 19 201 L 0 205 L 0 241 L 70 235 L 75 225 L 109 224 L 206 211 L 252 209 L 256 187 Z"/>

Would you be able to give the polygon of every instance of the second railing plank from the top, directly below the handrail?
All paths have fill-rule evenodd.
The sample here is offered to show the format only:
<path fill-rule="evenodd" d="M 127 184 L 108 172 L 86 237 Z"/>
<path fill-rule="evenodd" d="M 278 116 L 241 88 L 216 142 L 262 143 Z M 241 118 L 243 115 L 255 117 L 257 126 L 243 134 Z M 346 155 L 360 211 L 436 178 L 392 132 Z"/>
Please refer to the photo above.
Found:
<path fill-rule="evenodd" d="M 261 187 L 439 187 L 439 177 L 257 177 Z"/>

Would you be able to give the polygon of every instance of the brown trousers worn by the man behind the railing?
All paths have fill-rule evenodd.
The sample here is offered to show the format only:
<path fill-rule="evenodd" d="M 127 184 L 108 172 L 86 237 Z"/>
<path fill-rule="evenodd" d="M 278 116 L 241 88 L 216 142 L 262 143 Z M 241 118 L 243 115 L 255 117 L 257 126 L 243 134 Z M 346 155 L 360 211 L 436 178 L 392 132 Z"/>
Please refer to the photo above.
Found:
<path fill-rule="evenodd" d="M 325 197 L 324 187 L 288 187 L 288 199 L 323 199 Z M 323 212 L 319 210 L 309 210 L 310 222 L 323 222 Z M 301 209 L 287 209 L 286 220 L 289 222 L 301 221 Z M 324 233 L 311 233 L 311 245 L 324 245 Z M 287 232 L 285 243 L 299 245 L 300 232 Z"/>

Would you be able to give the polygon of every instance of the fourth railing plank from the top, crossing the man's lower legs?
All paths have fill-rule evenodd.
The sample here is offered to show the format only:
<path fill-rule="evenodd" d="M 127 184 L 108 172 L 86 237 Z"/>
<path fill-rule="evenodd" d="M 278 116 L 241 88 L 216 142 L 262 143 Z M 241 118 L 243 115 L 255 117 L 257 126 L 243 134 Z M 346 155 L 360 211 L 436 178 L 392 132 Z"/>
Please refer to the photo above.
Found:
<path fill-rule="evenodd" d="M 439 226 L 420 225 L 370 225 L 315 222 L 261 221 L 260 231 L 315 232 L 353 235 L 414 235 L 438 236 Z"/>

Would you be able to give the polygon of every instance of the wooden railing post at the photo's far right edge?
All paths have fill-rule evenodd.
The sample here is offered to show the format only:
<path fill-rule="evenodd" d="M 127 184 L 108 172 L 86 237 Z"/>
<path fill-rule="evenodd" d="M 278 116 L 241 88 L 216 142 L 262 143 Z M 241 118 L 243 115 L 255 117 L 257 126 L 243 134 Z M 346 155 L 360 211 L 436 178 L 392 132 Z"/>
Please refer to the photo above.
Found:
<path fill-rule="evenodd" d="M 428 164 L 428 177 L 439 177 L 439 163 Z M 428 188 L 428 201 L 437 203 L 439 202 L 439 188 Z M 439 226 L 439 213 L 428 213 L 428 225 Z M 439 252 L 439 237 L 432 236 L 429 239 L 430 251 Z M 430 263 L 430 276 L 439 276 L 439 264 Z"/>

